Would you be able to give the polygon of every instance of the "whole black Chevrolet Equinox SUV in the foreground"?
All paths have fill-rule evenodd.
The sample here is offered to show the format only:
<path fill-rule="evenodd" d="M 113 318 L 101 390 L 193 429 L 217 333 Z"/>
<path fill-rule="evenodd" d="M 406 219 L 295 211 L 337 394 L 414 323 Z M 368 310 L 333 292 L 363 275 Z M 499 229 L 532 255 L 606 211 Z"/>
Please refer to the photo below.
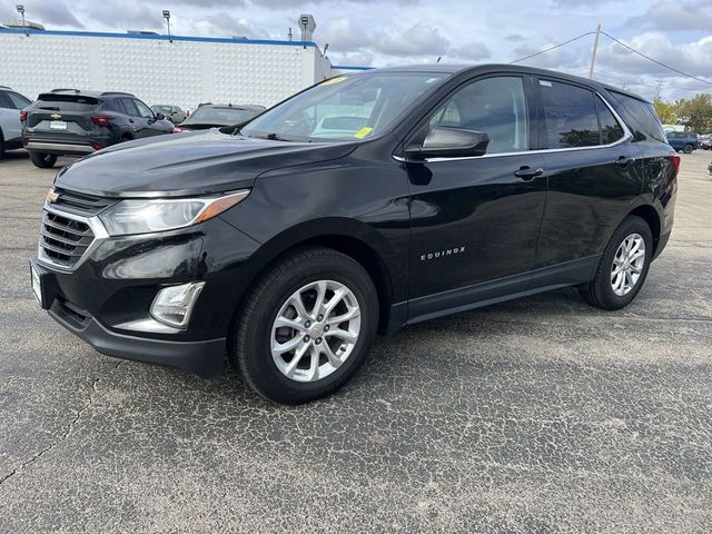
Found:
<path fill-rule="evenodd" d="M 301 403 L 376 333 L 576 286 L 619 309 L 670 237 L 680 157 L 652 106 L 513 66 L 339 76 L 246 126 L 60 170 L 33 291 L 99 352 Z"/>

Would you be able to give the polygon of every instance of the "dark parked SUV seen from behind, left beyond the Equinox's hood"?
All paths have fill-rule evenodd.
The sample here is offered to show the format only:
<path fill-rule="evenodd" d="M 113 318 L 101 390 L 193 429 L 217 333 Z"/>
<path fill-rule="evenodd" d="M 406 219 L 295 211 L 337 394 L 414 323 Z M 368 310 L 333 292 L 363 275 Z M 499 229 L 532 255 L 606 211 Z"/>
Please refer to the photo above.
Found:
<path fill-rule="evenodd" d="M 171 134 L 174 125 L 128 92 L 55 89 L 22 112 L 22 144 L 42 168 L 58 156 L 91 154 L 117 142 Z"/>

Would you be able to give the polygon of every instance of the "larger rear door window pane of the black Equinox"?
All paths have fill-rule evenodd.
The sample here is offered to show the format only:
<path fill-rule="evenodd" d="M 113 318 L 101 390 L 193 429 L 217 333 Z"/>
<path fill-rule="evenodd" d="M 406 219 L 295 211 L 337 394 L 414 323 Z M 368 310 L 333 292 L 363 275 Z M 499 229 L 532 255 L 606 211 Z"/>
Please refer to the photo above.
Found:
<path fill-rule="evenodd" d="M 548 148 L 601 145 L 594 95 L 589 89 L 540 80 Z"/>

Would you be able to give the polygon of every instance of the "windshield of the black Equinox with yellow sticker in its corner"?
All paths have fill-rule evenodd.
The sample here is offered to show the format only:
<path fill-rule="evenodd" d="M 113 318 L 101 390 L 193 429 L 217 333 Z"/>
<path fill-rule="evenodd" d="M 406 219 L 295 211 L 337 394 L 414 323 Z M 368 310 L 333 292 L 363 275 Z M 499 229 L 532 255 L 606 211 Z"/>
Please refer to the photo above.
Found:
<path fill-rule="evenodd" d="M 376 137 L 446 76 L 431 72 L 339 76 L 271 108 L 240 134 L 281 140 Z"/>

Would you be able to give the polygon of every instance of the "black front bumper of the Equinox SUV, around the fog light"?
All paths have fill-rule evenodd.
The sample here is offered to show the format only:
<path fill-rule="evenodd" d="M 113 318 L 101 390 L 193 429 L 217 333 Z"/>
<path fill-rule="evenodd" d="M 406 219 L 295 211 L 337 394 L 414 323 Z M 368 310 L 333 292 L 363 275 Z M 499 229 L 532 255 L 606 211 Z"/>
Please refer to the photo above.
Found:
<path fill-rule="evenodd" d="M 31 261 L 49 315 L 98 352 L 215 377 L 249 283 L 243 264 L 258 246 L 216 217 L 176 231 L 107 237 L 72 269 Z M 150 317 L 160 289 L 196 280 L 205 287 L 187 328 Z"/>

